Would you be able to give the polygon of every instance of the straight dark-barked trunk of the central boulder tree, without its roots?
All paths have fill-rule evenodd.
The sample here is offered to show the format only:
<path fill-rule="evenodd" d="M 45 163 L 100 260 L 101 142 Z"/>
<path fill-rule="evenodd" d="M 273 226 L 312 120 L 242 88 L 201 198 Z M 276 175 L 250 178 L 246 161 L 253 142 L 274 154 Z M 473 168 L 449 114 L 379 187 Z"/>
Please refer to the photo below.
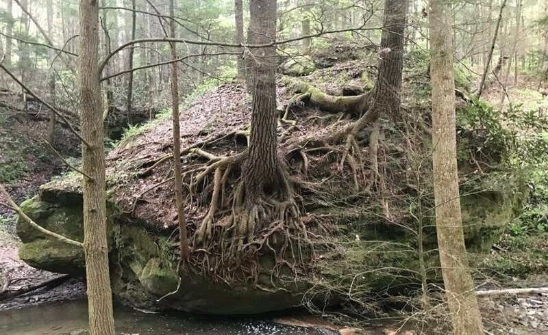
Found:
<path fill-rule="evenodd" d="M 257 0 L 249 3 L 253 42 L 269 43 L 276 37 L 276 1 Z M 248 34 L 249 36 L 249 34 Z M 264 196 L 276 190 L 278 182 L 277 161 L 277 111 L 276 111 L 276 55 L 274 47 L 255 51 L 253 69 L 253 107 L 251 110 L 251 139 L 249 159 L 243 171 L 246 197 Z M 270 195 L 270 194 L 269 194 Z"/>

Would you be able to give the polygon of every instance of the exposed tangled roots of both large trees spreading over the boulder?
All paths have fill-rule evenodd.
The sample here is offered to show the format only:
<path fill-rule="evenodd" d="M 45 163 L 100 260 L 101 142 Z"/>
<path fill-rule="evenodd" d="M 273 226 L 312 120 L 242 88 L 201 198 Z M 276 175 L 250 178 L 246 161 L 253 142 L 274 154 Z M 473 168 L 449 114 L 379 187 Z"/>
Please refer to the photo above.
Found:
<path fill-rule="evenodd" d="M 314 221 L 314 215 L 307 213 L 308 206 L 343 201 L 334 196 L 347 189 L 353 189 L 348 199 L 368 196 L 371 185 L 377 185 L 375 191 L 382 185 L 376 159 L 378 126 L 373 127 L 376 131 L 371 136 L 364 135 L 379 116 L 372 108 L 373 93 L 329 96 L 308 83 L 294 84 L 296 95 L 278 120 L 277 167 L 265 177 L 265 183 L 246 178 L 251 155 L 245 124 L 240 124 L 240 131 L 218 129 L 182 150 L 182 159 L 188 161 L 183 180 L 190 191 L 189 223 L 195 223 L 189 227 L 196 227 L 190 233 L 193 252 L 189 264 L 202 276 L 227 284 L 251 281 L 257 285 L 259 273 L 265 270 L 260 264 L 263 256 L 275 260 L 267 270 L 272 278 L 287 269 L 295 276 L 305 273 L 310 264 L 304 261 L 314 258 L 310 237 L 316 239 L 303 222 L 305 217 L 306 222 Z M 310 105 L 334 117 L 328 120 L 304 110 Z M 303 109 L 302 115 L 290 113 L 294 107 Z M 243 135 L 246 141 L 242 141 Z M 169 188 L 165 183 L 171 171 L 169 155 L 139 162 L 144 173 L 138 173 L 138 178 L 152 175 L 154 180 L 158 176 L 164 180 L 146 192 L 153 187 Z"/>

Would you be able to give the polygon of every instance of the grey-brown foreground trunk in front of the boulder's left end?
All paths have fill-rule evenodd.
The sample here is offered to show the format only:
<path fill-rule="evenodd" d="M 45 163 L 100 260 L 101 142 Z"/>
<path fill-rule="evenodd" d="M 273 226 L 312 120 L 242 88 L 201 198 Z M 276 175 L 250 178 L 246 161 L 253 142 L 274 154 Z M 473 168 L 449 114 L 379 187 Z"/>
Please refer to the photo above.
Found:
<path fill-rule="evenodd" d="M 99 6 L 80 1 L 80 125 L 84 173 L 84 251 L 88 287 L 89 325 L 92 335 L 114 334 L 112 291 L 108 269 L 106 227 L 105 148 L 101 111 L 99 60 Z"/>

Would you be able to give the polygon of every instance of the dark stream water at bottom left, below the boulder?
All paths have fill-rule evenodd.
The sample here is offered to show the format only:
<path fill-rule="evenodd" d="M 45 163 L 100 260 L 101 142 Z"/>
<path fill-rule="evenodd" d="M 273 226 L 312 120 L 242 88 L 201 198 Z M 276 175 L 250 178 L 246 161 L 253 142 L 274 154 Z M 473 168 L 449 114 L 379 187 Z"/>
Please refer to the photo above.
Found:
<path fill-rule="evenodd" d="M 336 334 L 323 328 L 279 325 L 253 317 L 208 317 L 192 314 L 145 314 L 115 306 L 118 334 Z M 0 311 L 0 334 L 71 334 L 86 329 L 87 302 L 45 304 Z"/>

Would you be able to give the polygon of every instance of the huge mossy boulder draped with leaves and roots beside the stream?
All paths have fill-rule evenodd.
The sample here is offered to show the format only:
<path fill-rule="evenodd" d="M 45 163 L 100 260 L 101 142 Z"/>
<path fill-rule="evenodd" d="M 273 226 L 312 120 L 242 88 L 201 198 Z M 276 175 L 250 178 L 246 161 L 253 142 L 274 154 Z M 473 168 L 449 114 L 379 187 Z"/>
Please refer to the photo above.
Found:
<path fill-rule="evenodd" d="M 356 97 L 322 92 L 342 92 L 349 81 L 364 85 L 362 74 L 368 68 L 366 61 L 349 61 L 298 80 L 319 85 L 317 92 L 333 106 L 339 98 Z M 274 211 L 271 208 L 279 213 L 253 222 L 253 229 L 247 225 L 259 216 L 253 211 L 243 212 L 249 214 L 245 228 L 236 222 L 244 217 L 236 204 L 241 203 L 237 197 L 244 197 L 239 183 L 249 144 L 247 90 L 238 83 L 221 85 L 181 113 L 182 177 L 192 246 L 181 271 L 169 114 L 134 129 L 109 153 L 108 243 L 116 299 L 138 308 L 249 314 L 302 302 L 324 306 L 345 299 L 366 302 L 382 293 L 408 294 L 420 288 L 423 274 L 428 282 L 440 282 L 432 170 L 425 163 L 432 150 L 427 132 L 431 113 L 423 107 L 427 101 L 407 106 L 417 113 L 408 119 L 412 124 L 383 120 L 379 170 L 382 166 L 386 189 L 380 189 L 371 187 L 366 163 L 369 129 L 351 150 L 344 142 L 326 144 L 334 131 L 353 120 L 310 103 L 305 98 L 310 94 L 295 92 L 284 82 L 277 86 L 286 116 L 277 127 L 278 148 L 291 192 L 286 190 L 287 201 L 265 199 L 264 213 Z M 295 93 L 301 100 L 295 100 Z M 417 95 L 407 82 L 402 94 L 403 104 L 426 96 Z M 416 97 L 409 98 L 412 95 Z M 412 142 L 404 137 L 411 129 L 418 129 Z M 470 151 L 466 142 L 460 146 Z M 490 249 L 524 198 L 519 183 L 489 183 L 488 168 L 493 165 L 481 176 L 473 174 L 474 167 L 461 174 L 473 177 L 461 180 L 464 237 L 473 252 Z M 69 174 L 42 185 L 39 195 L 22 208 L 38 224 L 82 241 L 79 176 Z M 82 250 L 51 241 L 25 222 L 18 223 L 18 235 L 23 241 L 20 256 L 30 265 L 85 277 Z M 422 261 L 419 240 L 425 250 Z"/>

